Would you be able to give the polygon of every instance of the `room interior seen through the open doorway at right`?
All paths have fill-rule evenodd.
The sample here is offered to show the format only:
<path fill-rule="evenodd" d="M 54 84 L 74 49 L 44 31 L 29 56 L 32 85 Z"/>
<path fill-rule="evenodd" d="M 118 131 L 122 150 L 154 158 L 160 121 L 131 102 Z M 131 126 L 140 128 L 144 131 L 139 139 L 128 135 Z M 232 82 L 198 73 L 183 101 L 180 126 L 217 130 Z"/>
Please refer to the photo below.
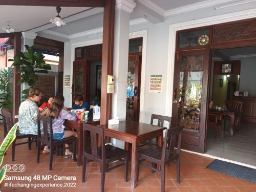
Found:
<path fill-rule="evenodd" d="M 209 111 L 206 154 L 256 165 L 256 111 L 255 71 L 256 47 L 213 50 L 209 89 Z M 229 110 L 229 100 L 242 101 L 241 127 L 234 118 L 233 137 L 230 119 L 225 114 L 216 116 L 212 111 Z M 236 115 L 235 115 L 236 116 Z M 214 122 L 217 120 L 216 122 Z M 215 131 L 215 126 L 217 127 Z M 221 130 L 220 130 L 221 127 Z M 216 133 L 215 133 L 216 132 Z"/>

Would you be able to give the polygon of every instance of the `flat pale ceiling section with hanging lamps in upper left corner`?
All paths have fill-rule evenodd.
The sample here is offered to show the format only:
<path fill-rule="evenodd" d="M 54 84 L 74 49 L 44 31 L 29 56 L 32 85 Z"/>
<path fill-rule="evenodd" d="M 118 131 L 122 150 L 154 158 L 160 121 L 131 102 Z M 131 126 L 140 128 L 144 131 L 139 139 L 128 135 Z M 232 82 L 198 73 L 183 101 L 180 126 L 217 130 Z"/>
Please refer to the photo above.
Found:
<path fill-rule="evenodd" d="M 7 0 L 8 1 L 8 0 Z M 62 7 L 61 18 L 67 17 L 81 11 L 87 10 L 86 7 Z M 0 6 L 0 33 L 6 33 L 2 27 L 9 25 L 15 31 L 26 31 L 41 25 L 49 24 L 50 19 L 56 15 L 55 7 L 39 7 L 39 6 Z M 52 24 L 54 26 L 54 24 Z"/>

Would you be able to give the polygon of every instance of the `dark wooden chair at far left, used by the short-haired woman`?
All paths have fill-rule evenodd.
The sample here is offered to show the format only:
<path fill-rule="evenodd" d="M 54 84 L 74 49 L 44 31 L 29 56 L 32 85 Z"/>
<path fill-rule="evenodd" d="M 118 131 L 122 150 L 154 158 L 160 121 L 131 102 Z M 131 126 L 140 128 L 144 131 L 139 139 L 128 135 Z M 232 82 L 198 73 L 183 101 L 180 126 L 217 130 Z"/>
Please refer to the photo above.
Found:
<path fill-rule="evenodd" d="M 11 111 L 3 110 L 2 113 L 3 113 L 3 119 L 4 119 L 4 136 L 6 137 L 8 132 L 13 127 L 12 112 Z M 25 139 L 25 138 L 28 138 L 28 141 L 16 143 L 16 141 L 18 139 Z M 36 142 L 36 138 L 37 138 L 36 135 L 21 134 L 21 133 L 19 133 L 19 130 L 17 129 L 17 131 L 16 131 L 16 139 L 12 142 L 12 161 L 14 161 L 14 158 L 15 158 L 15 147 L 16 147 L 16 145 L 23 145 L 23 144 L 27 144 L 28 143 L 29 150 L 31 150 L 31 143 L 32 142 Z"/>

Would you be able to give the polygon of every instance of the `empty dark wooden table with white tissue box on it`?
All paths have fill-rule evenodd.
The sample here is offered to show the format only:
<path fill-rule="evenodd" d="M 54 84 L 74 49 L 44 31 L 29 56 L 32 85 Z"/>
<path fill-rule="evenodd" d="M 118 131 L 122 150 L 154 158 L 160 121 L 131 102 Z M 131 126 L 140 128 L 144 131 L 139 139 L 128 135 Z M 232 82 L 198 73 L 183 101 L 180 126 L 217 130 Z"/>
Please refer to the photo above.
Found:
<path fill-rule="evenodd" d="M 135 188 L 138 170 L 138 144 L 148 139 L 158 138 L 158 146 L 162 146 L 163 130 L 166 127 L 136 121 L 119 121 L 117 125 L 103 124 L 99 126 L 103 128 L 106 137 L 125 141 L 126 151 L 129 151 L 129 143 L 132 144 L 131 187 Z"/>

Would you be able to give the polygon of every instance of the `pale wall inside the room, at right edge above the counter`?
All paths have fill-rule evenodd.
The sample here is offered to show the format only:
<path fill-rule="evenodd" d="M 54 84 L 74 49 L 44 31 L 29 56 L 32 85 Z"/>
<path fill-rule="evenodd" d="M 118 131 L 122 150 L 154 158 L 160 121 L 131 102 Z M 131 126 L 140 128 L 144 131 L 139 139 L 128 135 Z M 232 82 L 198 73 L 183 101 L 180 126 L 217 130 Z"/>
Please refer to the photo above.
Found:
<path fill-rule="evenodd" d="M 256 97 L 256 57 L 241 59 L 239 91 L 248 91 L 249 97 Z"/>

